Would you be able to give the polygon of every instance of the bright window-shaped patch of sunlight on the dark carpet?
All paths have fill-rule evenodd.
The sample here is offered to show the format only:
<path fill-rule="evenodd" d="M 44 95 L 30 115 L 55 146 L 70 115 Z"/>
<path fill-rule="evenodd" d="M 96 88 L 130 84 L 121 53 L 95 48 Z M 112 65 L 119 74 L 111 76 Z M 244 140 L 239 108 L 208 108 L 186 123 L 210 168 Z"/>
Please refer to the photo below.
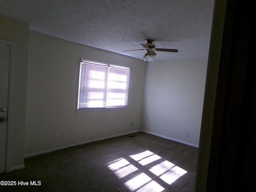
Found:
<path fill-rule="evenodd" d="M 158 176 L 158 178 L 171 185 L 187 173 L 186 170 L 168 160 L 163 160 L 162 157 L 149 150 L 130 155 L 130 158 L 129 161 L 125 158 L 114 160 L 108 163 L 108 168 L 119 179 L 124 179 L 124 185 L 132 192 L 161 192 L 164 188 L 152 178 Z M 153 162 L 154 166 L 150 166 Z M 146 170 L 140 170 L 141 166 L 145 166 Z"/>

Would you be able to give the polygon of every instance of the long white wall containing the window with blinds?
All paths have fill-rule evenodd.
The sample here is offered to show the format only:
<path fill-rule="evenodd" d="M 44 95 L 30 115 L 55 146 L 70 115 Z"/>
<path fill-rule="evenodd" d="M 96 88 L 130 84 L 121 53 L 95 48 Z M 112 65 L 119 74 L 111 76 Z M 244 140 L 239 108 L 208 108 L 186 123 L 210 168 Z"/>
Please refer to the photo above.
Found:
<path fill-rule="evenodd" d="M 144 61 L 33 31 L 28 53 L 26 156 L 141 129 Z M 76 111 L 80 58 L 131 68 L 127 109 Z"/>

